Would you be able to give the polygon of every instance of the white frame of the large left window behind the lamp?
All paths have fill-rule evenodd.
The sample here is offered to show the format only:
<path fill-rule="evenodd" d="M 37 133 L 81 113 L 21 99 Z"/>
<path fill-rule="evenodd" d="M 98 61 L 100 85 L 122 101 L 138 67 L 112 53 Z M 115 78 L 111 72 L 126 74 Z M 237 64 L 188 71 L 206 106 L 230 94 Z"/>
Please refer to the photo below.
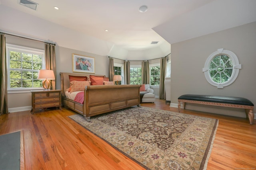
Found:
<path fill-rule="evenodd" d="M 10 88 L 10 51 L 20 51 L 20 52 L 27 52 L 27 53 L 34 53 L 34 54 L 40 54 L 42 55 L 42 69 L 45 69 L 45 52 L 41 49 L 35 49 L 30 47 L 24 47 L 20 45 L 12 45 L 12 44 L 6 44 L 6 58 L 7 58 L 7 72 L 8 72 L 8 91 L 26 91 L 26 90 L 36 90 L 36 89 L 42 89 L 42 87 L 38 88 Z M 23 69 L 20 69 L 23 70 Z"/>

